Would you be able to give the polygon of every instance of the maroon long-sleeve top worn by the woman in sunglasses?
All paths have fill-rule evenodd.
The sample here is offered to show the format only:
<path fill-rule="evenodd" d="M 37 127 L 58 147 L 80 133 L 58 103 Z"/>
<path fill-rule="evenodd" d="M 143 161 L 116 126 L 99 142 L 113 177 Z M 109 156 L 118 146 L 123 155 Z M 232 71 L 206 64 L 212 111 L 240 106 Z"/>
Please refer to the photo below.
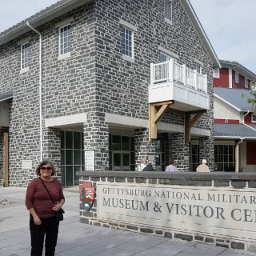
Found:
<path fill-rule="evenodd" d="M 64 199 L 62 184 L 57 178 L 50 182 L 43 182 L 54 199 L 54 203 L 39 178 L 34 178 L 26 190 L 26 209 L 34 208 L 39 218 L 54 216 L 55 212 L 52 210 L 54 204 L 57 205 L 61 199 Z"/>

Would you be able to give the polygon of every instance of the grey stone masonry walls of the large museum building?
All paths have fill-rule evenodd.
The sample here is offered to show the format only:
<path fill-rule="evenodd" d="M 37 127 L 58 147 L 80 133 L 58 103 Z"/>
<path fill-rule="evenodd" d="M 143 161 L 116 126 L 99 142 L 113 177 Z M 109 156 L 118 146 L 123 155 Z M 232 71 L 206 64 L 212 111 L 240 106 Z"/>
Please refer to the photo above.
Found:
<path fill-rule="evenodd" d="M 58 27 L 66 18 L 71 26 L 70 58 L 58 60 Z M 134 62 L 122 58 L 120 19 L 137 27 L 134 32 Z M 37 28 L 42 33 L 42 115 L 54 118 L 88 113 L 84 124 L 85 149 L 96 150 L 96 169 L 108 169 L 108 125 L 105 114 L 148 118 L 150 62 L 159 62 L 158 46 L 179 55 L 179 62 L 194 68 L 202 61 L 208 75 L 210 106 L 213 106 L 212 64 L 179 1 L 174 2 L 174 22 L 164 22 L 164 1 L 95 0 Z M 30 36 L 30 70 L 20 74 L 18 40 Z M 14 91 L 10 104 L 10 186 L 26 186 L 34 177 L 40 159 L 38 97 L 38 34 L 34 31 L 0 46 L 0 94 Z M 196 126 L 212 129 L 213 112 L 208 111 Z M 178 114 L 162 120 L 183 124 Z M 136 133 L 136 132 L 135 132 Z M 147 131 L 137 136 L 138 158 L 153 154 L 146 143 Z M 139 134 L 139 133 L 138 133 Z M 44 156 L 60 165 L 58 131 L 43 129 Z M 140 139 L 147 146 L 140 144 Z M 178 139 L 178 138 L 177 138 Z M 51 142 L 50 142 L 51 141 Z M 135 144 L 136 144 L 135 142 Z M 56 145 L 53 145 L 56 143 Z M 207 151 L 211 144 L 206 143 Z M 149 150 L 146 152 L 146 150 Z M 174 150 L 174 149 L 172 149 Z M 187 152 L 185 154 L 188 154 Z M 32 160 L 31 170 L 20 170 L 22 160 Z M 186 163 L 180 161 L 183 169 Z"/>

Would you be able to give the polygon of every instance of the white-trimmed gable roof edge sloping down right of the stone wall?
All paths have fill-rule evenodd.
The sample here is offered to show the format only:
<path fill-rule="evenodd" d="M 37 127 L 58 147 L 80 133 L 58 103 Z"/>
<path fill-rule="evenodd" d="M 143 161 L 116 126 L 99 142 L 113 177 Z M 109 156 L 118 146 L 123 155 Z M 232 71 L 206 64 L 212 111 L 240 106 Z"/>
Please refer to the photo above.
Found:
<path fill-rule="evenodd" d="M 217 54 L 214 51 L 213 46 L 210 43 L 209 38 L 206 35 L 205 30 L 203 29 L 197 14 L 195 14 L 195 11 L 192 7 L 192 5 L 190 4 L 189 0 L 180 0 L 180 2 L 182 2 L 182 6 L 184 8 L 184 10 L 186 10 L 186 14 L 190 17 L 190 21 L 192 22 L 194 29 L 197 31 L 199 38 L 202 41 L 203 46 L 205 47 L 206 51 L 208 52 L 208 54 L 210 55 L 210 58 L 213 61 L 213 65 L 214 67 L 222 67 Z"/>

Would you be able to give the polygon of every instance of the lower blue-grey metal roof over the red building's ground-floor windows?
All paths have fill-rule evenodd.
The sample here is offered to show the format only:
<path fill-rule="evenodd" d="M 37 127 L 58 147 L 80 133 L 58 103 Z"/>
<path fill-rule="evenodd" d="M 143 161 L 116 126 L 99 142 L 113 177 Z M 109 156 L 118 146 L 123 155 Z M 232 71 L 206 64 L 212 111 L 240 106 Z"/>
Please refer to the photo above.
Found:
<path fill-rule="evenodd" d="M 214 123 L 214 137 L 218 136 L 256 139 L 256 130 L 240 123 Z"/>

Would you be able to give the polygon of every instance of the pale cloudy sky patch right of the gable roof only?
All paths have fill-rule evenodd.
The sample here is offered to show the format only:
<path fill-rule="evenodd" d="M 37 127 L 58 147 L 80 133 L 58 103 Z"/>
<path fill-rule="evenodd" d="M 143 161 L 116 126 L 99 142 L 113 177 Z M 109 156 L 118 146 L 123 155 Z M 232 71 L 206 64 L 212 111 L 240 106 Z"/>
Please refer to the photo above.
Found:
<path fill-rule="evenodd" d="M 218 58 L 255 73 L 255 0 L 190 0 Z"/>

